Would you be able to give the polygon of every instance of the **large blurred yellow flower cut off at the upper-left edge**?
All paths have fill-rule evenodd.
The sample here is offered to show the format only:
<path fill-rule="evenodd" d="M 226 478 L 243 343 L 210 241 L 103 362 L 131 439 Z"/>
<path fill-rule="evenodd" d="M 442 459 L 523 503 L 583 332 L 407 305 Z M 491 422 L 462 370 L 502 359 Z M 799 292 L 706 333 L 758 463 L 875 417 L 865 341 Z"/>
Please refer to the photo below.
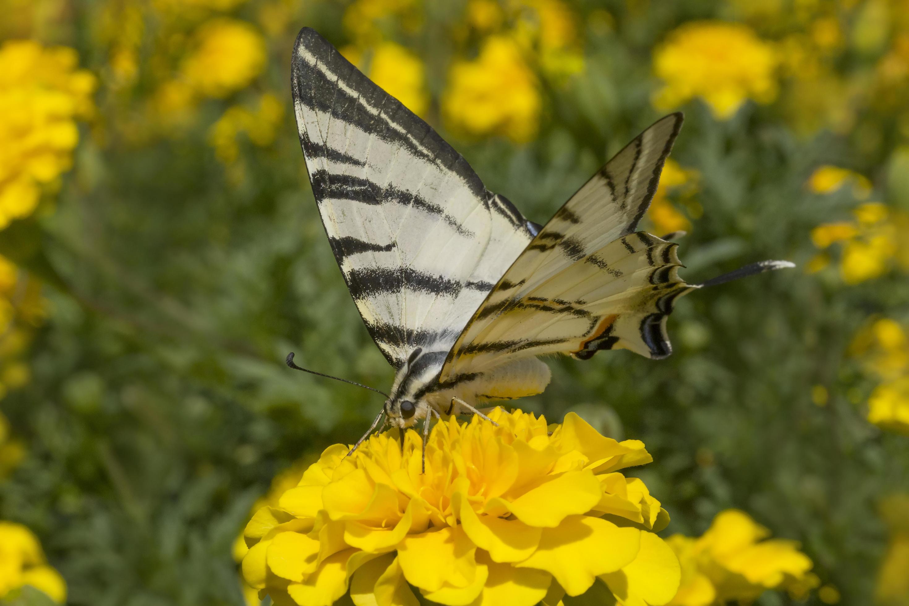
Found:
<path fill-rule="evenodd" d="M 43 190 L 69 170 L 76 120 L 94 110 L 95 77 L 71 48 L 31 40 L 0 46 L 0 230 L 35 211 Z"/>

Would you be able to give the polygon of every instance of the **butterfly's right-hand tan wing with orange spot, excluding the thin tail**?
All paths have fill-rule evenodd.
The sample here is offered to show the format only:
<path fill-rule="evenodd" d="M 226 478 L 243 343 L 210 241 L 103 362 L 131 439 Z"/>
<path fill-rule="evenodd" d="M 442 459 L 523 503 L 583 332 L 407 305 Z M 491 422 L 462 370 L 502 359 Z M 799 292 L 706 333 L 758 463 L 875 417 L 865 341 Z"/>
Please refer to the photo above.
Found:
<path fill-rule="evenodd" d="M 676 244 L 635 230 L 681 123 L 645 130 L 544 225 L 458 337 L 443 381 L 546 353 L 671 352 L 665 317 L 696 286 L 677 275 Z"/>

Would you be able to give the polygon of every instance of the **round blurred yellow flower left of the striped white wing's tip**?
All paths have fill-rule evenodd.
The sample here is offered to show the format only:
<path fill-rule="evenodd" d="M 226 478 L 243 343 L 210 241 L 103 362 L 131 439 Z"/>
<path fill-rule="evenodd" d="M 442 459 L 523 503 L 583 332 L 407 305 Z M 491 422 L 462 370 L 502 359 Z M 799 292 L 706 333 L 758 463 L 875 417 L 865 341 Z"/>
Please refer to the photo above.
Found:
<path fill-rule="evenodd" d="M 264 67 L 265 39 L 255 27 L 220 18 L 199 28 L 182 74 L 196 92 L 225 97 L 250 84 Z"/>

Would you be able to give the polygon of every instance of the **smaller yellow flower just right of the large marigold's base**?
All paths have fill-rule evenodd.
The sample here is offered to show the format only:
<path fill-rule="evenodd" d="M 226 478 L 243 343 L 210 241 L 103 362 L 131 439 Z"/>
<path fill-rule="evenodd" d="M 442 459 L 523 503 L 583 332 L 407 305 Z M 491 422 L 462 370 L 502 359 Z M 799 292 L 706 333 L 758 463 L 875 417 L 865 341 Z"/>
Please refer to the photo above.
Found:
<path fill-rule="evenodd" d="M 764 526 L 745 512 L 726 510 L 699 538 L 674 534 L 666 541 L 682 565 L 674 606 L 754 601 L 769 589 L 803 593 L 819 583 L 798 543 L 767 539 Z"/>

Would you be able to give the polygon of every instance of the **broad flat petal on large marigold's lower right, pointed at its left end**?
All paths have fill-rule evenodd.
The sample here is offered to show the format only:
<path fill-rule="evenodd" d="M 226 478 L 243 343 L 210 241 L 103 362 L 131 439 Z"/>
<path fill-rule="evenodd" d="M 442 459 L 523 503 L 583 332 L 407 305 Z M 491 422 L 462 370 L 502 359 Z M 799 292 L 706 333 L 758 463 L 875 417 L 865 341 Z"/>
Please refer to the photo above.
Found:
<path fill-rule="evenodd" d="M 640 544 L 641 531 L 636 528 L 572 515 L 558 528 L 545 528 L 534 555 L 514 565 L 552 573 L 565 592 L 574 596 L 590 589 L 596 576 L 633 561 Z"/>

